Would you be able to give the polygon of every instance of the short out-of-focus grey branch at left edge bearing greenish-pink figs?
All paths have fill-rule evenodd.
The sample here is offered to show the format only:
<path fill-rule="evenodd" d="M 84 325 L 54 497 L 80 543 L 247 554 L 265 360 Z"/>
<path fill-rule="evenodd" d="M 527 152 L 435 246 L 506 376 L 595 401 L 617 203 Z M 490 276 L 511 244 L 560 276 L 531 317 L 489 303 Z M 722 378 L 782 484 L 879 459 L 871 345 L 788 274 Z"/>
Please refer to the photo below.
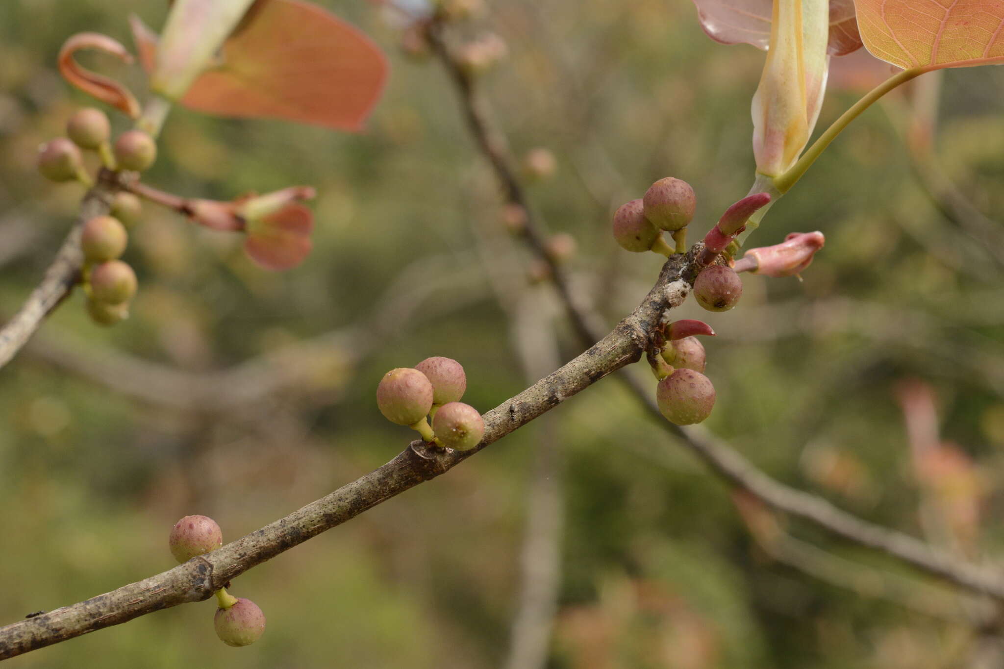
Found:
<path fill-rule="evenodd" d="M 119 189 L 117 177 L 101 171 L 97 184 L 87 191 L 80 202 L 80 214 L 56 253 L 55 260 L 45 271 L 42 282 L 31 291 L 21 309 L 0 328 L 0 367 L 17 355 L 45 317 L 73 290 L 83 266 L 80 229 L 87 220 L 108 213 L 111 198 Z"/>

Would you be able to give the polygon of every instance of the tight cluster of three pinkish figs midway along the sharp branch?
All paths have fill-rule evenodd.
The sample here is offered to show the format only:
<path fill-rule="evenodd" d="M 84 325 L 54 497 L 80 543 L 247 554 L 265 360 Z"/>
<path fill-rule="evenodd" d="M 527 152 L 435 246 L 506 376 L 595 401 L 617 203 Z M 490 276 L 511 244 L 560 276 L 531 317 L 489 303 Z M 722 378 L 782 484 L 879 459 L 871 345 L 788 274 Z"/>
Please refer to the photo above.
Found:
<path fill-rule="evenodd" d="M 376 405 L 388 420 L 417 430 L 427 442 L 470 450 L 481 443 L 485 423 L 477 409 L 460 401 L 466 390 L 464 367 L 435 356 L 385 374 L 376 387 Z"/>

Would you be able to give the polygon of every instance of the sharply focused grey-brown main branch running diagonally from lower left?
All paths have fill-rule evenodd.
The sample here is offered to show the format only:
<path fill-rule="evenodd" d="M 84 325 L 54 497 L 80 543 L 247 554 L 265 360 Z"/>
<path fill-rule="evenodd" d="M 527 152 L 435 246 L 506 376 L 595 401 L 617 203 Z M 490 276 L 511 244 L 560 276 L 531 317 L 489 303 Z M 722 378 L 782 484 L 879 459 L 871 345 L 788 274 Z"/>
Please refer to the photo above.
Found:
<path fill-rule="evenodd" d="M 700 247 L 696 249 L 700 252 Z M 639 307 L 584 353 L 484 414 L 485 437 L 468 451 L 413 441 L 384 466 L 236 542 L 84 602 L 0 628 L 0 659 L 59 643 L 186 602 L 208 599 L 256 565 L 445 473 L 604 376 L 637 362 L 664 311 L 690 292 L 694 254 L 675 256 Z"/>

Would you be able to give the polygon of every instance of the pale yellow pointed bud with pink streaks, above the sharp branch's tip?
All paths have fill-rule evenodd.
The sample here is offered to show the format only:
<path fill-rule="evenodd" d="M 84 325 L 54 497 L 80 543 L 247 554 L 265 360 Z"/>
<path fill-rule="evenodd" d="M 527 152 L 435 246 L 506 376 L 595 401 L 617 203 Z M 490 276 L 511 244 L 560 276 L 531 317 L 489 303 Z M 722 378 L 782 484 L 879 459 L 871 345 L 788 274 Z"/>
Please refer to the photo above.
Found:
<path fill-rule="evenodd" d="M 826 87 L 829 3 L 774 0 L 770 47 L 753 96 L 757 172 L 778 177 L 794 164 L 815 125 Z"/>

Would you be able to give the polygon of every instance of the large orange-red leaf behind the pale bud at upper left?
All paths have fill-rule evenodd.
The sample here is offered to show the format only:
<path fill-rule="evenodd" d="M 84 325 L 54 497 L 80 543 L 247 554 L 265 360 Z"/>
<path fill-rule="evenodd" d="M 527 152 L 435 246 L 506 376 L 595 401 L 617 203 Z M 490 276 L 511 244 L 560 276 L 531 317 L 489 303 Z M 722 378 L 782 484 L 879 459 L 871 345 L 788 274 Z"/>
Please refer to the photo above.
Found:
<path fill-rule="evenodd" d="M 144 66 L 151 33 L 134 21 Z M 387 60 L 354 27 L 300 0 L 264 0 L 223 46 L 223 63 L 182 100 L 197 111 L 359 130 L 387 79 Z"/>

